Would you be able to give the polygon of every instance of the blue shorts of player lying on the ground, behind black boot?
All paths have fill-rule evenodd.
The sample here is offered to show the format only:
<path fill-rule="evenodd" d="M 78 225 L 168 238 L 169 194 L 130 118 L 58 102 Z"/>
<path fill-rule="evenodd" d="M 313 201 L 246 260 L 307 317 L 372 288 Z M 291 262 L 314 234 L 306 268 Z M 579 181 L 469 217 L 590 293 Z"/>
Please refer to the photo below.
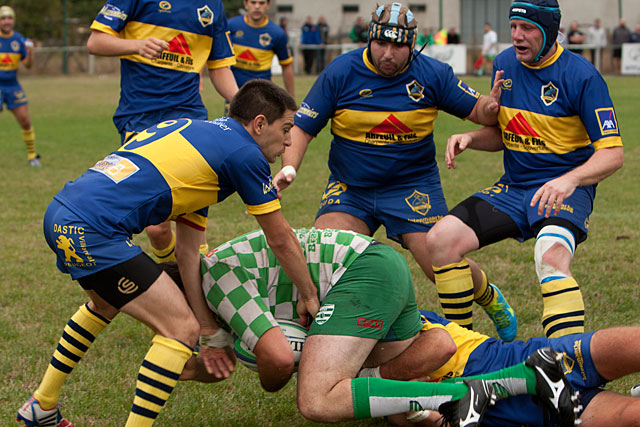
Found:
<path fill-rule="evenodd" d="M 586 408 L 591 399 L 602 391 L 607 383 L 596 370 L 591 359 L 591 337 L 594 332 L 567 335 L 560 338 L 531 338 L 527 342 L 505 343 L 490 338 L 471 352 L 464 376 L 480 375 L 497 371 L 524 362 L 527 357 L 542 347 L 551 347 L 564 353 L 562 365 L 571 386 L 580 392 L 582 407 Z M 500 400 L 487 411 L 483 424 L 491 426 L 554 426 L 557 419 L 545 416 L 541 406 L 522 395 Z"/>

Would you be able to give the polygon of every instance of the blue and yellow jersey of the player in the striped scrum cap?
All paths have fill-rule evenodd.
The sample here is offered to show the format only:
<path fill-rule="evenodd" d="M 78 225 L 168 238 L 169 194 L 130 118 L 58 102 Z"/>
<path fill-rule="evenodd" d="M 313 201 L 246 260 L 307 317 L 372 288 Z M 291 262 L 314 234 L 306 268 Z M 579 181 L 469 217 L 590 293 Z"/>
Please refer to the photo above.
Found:
<path fill-rule="evenodd" d="M 449 65 L 425 55 L 400 75 L 383 77 L 361 48 L 320 74 L 295 124 L 316 136 L 331 119 L 329 169 L 348 185 L 402 184 L 416 177 L 439 182 L 433 142 L 438 110 L 467 117 L 478 96 Z"/>

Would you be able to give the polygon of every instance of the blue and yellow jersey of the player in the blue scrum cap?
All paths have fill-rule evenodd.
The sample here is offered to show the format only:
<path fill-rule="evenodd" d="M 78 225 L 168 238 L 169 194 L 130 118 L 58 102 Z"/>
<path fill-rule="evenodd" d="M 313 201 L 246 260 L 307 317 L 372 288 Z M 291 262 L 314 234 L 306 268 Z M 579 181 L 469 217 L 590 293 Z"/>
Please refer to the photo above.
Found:
<path fill-rule="evenodd" d="M 537 185 L 586 162 L 595 150 L 622 145 L 607 84 L 588 60 L 564 50 L 537 67 L 498 55 L 504 70 L 498 121 L 506 184 Z"/>

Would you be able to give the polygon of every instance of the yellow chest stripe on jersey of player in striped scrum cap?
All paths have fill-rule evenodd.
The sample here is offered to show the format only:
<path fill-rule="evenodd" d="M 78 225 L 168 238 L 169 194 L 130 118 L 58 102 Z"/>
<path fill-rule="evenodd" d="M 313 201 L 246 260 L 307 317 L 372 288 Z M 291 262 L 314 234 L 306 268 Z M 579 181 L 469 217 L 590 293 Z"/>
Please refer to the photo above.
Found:
<path fill-rule="evenodd" d="M 334 135 L 372 145 L 418 142 L 433 133 L 436 107 L 411 111 L 338 110 L 331 120 Z"/>

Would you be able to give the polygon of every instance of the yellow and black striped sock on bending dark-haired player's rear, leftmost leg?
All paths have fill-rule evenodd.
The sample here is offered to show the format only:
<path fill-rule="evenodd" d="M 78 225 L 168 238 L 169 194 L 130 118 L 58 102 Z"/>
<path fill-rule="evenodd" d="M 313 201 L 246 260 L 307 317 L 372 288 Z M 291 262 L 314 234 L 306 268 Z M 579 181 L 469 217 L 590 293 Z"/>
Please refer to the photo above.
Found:
<path fill-rule="evenodd" d="M 109 322 L 109 319 L 90 310 L 87 304 L 80 306 L 69 319 L 42 382 L 33 393 L 33 397 L 40 402 L 40 407 L 50 409 L 56 406 L 67 376 Z"/>

